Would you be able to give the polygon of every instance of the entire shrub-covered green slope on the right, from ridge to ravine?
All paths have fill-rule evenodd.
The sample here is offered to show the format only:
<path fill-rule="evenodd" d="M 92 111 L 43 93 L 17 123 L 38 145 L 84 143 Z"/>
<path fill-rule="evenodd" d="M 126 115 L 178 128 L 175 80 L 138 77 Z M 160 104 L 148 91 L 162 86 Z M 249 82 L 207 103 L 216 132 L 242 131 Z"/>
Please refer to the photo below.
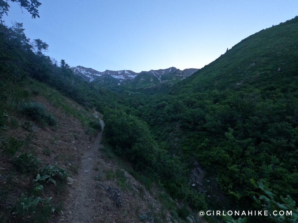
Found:
<path fill-rule="evenodd" d="M 298 18 L 262 30 L 137 108 L 210 207 L 261 208 L 251 178 L 298 200 L 297 37 Z"/>

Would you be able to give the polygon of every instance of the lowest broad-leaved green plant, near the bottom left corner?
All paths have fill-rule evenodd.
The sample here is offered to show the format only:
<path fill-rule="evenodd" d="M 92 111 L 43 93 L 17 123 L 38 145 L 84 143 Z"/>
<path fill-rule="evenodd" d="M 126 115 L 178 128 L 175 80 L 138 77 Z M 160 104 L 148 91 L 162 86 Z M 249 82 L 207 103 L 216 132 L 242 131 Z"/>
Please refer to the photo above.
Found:
<path fill-rule="evenodd" d="M 39 202 L 45 204 L 47 208 L 51 208 L 52 212 L 54 212 L 55 208 L 50 204 L 51 199 L 52 197 L 49 197 L 47 199 L 43 199 L 41 197 L 34 198 L 34 196 L 25 197 L 25 195 L 22 194 L 19 205 L 16 207 L 16 210 L 13 212 L 13 214 L 18 216 L 34 214 Z"/>

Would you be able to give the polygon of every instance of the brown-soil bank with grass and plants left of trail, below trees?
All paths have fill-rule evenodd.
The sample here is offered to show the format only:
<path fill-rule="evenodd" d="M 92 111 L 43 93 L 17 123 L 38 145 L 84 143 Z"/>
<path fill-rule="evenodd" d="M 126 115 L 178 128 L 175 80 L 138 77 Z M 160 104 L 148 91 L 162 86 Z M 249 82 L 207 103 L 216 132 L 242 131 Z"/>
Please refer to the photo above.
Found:
<path fill-rule="evenodd" d="M 0 222 L 47 222 L 62 210 L 66 178 L 77 172 L 98 120 L 30 78 L 1 78 L 0 91 Z"/>

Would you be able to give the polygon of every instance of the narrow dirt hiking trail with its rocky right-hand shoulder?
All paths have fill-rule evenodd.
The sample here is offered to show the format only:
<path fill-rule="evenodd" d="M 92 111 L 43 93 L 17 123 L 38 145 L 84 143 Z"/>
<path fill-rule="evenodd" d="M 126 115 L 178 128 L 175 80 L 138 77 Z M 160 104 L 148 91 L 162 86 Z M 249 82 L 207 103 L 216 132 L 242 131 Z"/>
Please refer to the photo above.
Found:
<path fill-rule="evenodd" d="M 94 116 L 100 120 L 103 130 L 102 115 L 94 110 Z M 78 173 L 72 176 L 73 179 L 68 179 L 68 195 L 63 210 L 52 222 L 134 223 L 141 222 L 140 215 L 148 211 L 152 203 L 154 212 L 160 211 L 160 205 L 151 194 L 117 161 L 107 158 L 100 150 L 103 147 L 102 132 L 91 146 L 81 152 Z M 116 176 L 117 171 L 125 179 L 122 186 Z M 108 177 L 111 173 L 113 177 Z M 169 221 L 167 216 L 165 222 Z"/>

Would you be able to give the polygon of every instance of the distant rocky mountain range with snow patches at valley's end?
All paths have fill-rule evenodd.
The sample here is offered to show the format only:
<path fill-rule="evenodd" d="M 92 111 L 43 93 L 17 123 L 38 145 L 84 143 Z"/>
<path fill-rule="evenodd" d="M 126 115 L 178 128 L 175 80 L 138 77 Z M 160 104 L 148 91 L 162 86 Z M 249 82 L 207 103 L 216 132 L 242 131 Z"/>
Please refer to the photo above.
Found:
<path fill-rule="evenodd" d="M 82 66 L 71 67 L 70 69 L 89 82 L 94 81 L 98 84 L 111 86 L 126 84 L 130 87 L 150 87 L 162 82 L 177 83 L 199 70 L 195 68 L 179 70 L 176 67 L 170 67 L 135 73 L 131 70 L 105 70 L 99 72 Z"/>

